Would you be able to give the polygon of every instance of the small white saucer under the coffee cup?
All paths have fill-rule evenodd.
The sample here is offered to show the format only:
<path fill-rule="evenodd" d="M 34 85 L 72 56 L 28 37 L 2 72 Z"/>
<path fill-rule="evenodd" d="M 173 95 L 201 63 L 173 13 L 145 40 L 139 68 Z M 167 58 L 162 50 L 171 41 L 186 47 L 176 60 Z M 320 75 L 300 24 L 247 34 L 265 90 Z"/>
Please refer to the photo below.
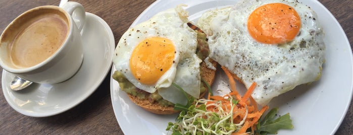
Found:
<path fill-rule="evenodd" d="M 115 40 L 108 24 L 91 13 L 86 13 L 81 35 L 84 49 L 81 68 L 63 83 L 32 84 L 22 91 L 12 91 L 10 82 L 14 76 L 3 71 L 3 92 L 12 108 L 28 116 L 51 116 L 76 106 L 95 91 L 111 69 Z"/>

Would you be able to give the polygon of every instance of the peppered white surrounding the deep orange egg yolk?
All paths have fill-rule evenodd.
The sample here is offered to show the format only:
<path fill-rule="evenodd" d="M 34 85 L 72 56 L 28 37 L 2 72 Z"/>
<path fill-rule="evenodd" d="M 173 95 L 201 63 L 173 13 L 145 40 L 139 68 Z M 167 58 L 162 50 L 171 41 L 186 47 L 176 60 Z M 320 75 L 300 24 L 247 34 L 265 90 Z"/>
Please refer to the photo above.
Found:
<path fill-rule="evenodd" d="M 301 27 L 293 41 L 269 45 L 249 35 L 248 16 L 270 3 L 287 4 L 300 16 Z M 313 10 L 297 1 L 240 1 L 232 8 L 206 12 L 197 25 L 209 33 L 209 57 L 239 77 L 246 88 L 256 82 L 251 96 L 266 105 L 273 97 L 320 78 L 325 44 L 316 18 Z"/>

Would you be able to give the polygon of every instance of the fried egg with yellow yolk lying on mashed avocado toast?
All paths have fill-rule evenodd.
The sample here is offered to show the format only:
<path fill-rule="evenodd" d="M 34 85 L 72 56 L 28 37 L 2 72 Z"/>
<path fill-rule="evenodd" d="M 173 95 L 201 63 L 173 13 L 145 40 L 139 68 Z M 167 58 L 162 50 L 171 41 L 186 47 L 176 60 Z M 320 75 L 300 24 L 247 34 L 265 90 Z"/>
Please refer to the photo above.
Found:
<path fill-rule="evenodd" d="M 178 6 L 128 29 L 113 57 L 117 71 L 138 89 L 148 93 L 158 90 L 172 103 L 187 101 L 173 82 L 198 98 L 201 60 L 195 54 L 197 34 L 186 24 L 186 16 Z"/>

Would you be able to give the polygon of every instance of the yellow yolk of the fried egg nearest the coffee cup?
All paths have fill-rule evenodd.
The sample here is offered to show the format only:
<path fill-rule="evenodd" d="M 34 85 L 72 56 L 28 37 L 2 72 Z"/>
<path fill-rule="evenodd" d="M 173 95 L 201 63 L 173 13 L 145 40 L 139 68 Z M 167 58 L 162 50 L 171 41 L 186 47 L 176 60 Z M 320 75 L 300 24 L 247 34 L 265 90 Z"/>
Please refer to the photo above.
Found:
<path fill-rule="evenodd" d="M 150 37 L 132 51 L 130 70 L 136 80 L 145 85 L 155 84 L 175 62 L 175 47 L 169 39 Z"/>

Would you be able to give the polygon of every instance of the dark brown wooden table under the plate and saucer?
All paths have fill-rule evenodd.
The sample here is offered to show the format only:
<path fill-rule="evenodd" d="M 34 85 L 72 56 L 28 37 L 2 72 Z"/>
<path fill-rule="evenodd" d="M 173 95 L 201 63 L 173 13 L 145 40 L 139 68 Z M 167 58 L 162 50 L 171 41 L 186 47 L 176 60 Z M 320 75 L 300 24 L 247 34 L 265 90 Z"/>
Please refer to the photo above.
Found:
<path fill-rule="evenodd" d="M 76 2 L 81 3 L 86 12 L 103 18 L 111 27 L 117 43 L 137 16 L 154 0 L 77 0 Z M 349 42 L 353 43 L 353 27 L 351 26 L 353 1 L 320 0 L 320 2 L 336 17 Z M 42 5 L 59 5 L 59 0 L 1 0 L 0 32 L 2 33 L 13 19 L 24 11 Z M 353 134 L 352 127 L 353 107 L 351 103 L 336 134 Z M 3 92 L 0 92 L 0 130 L 0 134 L 123 134 L 113 112 L 110 75 L 82 103 L 66 112 L 49 117 L 29 117 L 16 112 L 5 100 Z"/>

